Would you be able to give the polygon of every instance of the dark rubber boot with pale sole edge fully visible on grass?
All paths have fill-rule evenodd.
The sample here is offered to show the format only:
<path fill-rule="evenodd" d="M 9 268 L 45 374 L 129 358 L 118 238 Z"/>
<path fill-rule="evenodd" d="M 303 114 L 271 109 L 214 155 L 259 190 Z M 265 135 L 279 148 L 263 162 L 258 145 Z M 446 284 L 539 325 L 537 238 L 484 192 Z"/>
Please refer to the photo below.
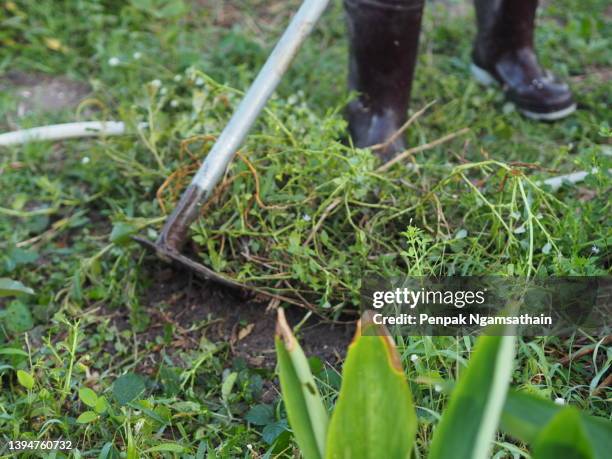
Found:
<path fill-rule="evenodd" d="M 542 69 L 533 49 L 537 0 L 475 0 L 478 35 L 472 73 L 498 82 L 521 113 L 553 121 L 576 110 L 572 93 Z"/>

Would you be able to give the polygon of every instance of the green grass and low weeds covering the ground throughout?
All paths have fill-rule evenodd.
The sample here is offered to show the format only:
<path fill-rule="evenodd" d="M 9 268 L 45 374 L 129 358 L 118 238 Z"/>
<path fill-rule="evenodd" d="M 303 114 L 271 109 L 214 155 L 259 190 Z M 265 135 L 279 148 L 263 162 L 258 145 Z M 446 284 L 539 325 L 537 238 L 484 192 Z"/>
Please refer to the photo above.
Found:
<path fill-rule="evenodd" d="M 248 457 L 250 448 L 262 456 L 292 454 L 279 397 L 262 399 L 264 384 L 274 381 L 273 372 L 232 359 L 223 342 L 203 338 L 195 348 L 174 349 L 173 338 L 180 331 L 172 327 L 148 339 L 151 321 L 148 305 L 142 302 L 151 279 L 142 268 L 141 251 L 109 240 L 118 223 L 146 228 L 151 237 L 159 230 L 163 212 L 156 191 L 169 173 L 194 163 L 187 152 L 180 154 L 181 142 L 219 133 L 239 100 L 237 90 L 248 87 L 296 4 L 266 3 L 236 2 L 241 14 L 231 28 L 215 24 L 210 10 L 193 6 L 190 12 L 177 1 L 41 0 L 35 6 L 27 1 L 0 6 L 1 72 L 36 71 L 88 81 L 93 88 L 90 102 L 95 99 L 103 107 L 95 117 L 123 119 L 132 126 L 147 121 L 150 126 L 124 138 L 33 143 L 0 152 L 0 277 L 19 279 L 35 290 L 34 296 L 0 303 L 5 310 L 26 311 L 10 325 L 0 321 L 0 345 L 21 351 L 0 355 L 0 448 L 9 438 L 63 436 L 78 442 L 80 456 L 73 453 L 74 457 L 97 457 L 107 444 L 137 451 L 137 457 L 161 457 L 162 453 L 145 451 L 168 443 L 182 445 L 184 454 L 199 451 L 197 457 Z M 353 185 L 341 194 L 347 200 L 367 199 L 358 194 L 359 186 L 377 187 L 387 208 L 410 210 L 392 225 L 380 227 L 386 231 L 375 236 L 382 241 L 373 241 L 369 234 L 343 239 L 353 234 L 350 223 L 330 219 L 328 247 L 342 244 L 342 251 L 292 255 L 298 260 L 293 267 L 298 271 L 287 276 L 298 281 L 292 291 L 307 288 L 312 303 L 327 307 L 326 313 L 337 314 L 347 306 L 355 289 L 351 280 L 361 276 L 359 267 L 346 259 L 358 260 L 384 244 L 403 252 L 399 260 L 376 260 L 377 269 L 384 272 L 398 265 L 411 266 L 417 274 L 609 272 L 610 176 L 605 171 L 611 159 L 604 153 L 610 148 L 612 85 L 604 72 L 609 74 L 612 58 L 610 21 L 604 0 L 581 2 L 579 10 L 574 3 L 558 1 L 542 11 L 537 35 L 542 61 L 571 81 L 580 105 L 574 116 L 554 124 L 525 120 L 497 91 L 470 80 L 472 13 L 458 18 L 439 4 L 428 5 L 413 111 L 437 102 L 409 129 L 407 141 L 415 146 L 463 127 L 470 132 L 415 155 L 418 167 L 390 170 L 386 177 L 403 179 L 398 188 L 379 179 L 359 182 L 360 174 L 376 167 L 376 160 L 367 151 L 353 151 L 341 143 L 341 107 L 349 95 L 344 90 L 342 9 L 335 2 L 243 150 L 258 169 L 262 187 L 269 187 L 262 192 L 265 203 L 294 199 L 300 190 L 313 201 L 295 202 L 289 218 L 261 212 L 255 203 L 248 209 L 254 212 L 255 229 L 248 229 L 236 210 L 246 212 L 254 180 L 246 164 L 237 160 L 231 174 L 244 173 L 244 179 L 234 182 L 235 193 L 211 209 L 212 218 L 196 229 L 195 239 L 205 247 L 204 261 L 252 281 L 261 272 L 240 258 L 240 247 L 227 242 L 222 251 L 223 237 L 231 242 L 251 231 L 260 235 L 252 238 L 257 243 L 265 228 L 281 232 L 275 236 L 280 241 L 275 255 L 265 245 L 269 239 L 263 239 L 259 249 L 265 249 L 265 255 L 282 259 L 291 234 L 298 235 L 293 237 L 299 249 L 299 241 L 312 230 L 335 189 L 330 185 L 314 192 L 308 179 L 317 177 L 319 183 L 350 179 Z M 154 9 L 148 4 L 167 8 L 151 14 Z M 255 21 L 262 9 L 265 20 Z M 111 65 L 115 59 L 119 64 Z M 154 80 L 161 86 L 152 84 Z M 16 106 L 17 97 L 10 91 L 0 95 L 2 130 L 14 120 Z M 33 113 L 19 123 L 28 127 L 75 118 L 67 111 Z M 210 144 L 195 139 L 190 152 L 200 158 Z M 333 170 L 330 161 L 336 161 Z M 512 165 L 516 161 L 534 166 Z M 554 195 L 539 193 L 528 182 L 593 167 L 600 172 Z M 507 168 L 520 174 L 504 179 Z M 278 174 L 281 179 L 276 180 L 282 181 L 284 174 L 295 186 L 272 189 L 269 184 Z M 467 182 L 477 183 L 481 195 Z M 167 208 L 179 190 L 174 191 L 162 196 Z M 310 221 L 296 218 L 304 214 Z M 517 232 L 523 223 L 526 231 Z M 402 235 L 408 225 L 412 226 Z M 515 243 L 508 245 L 508 238 Z M 333 288 L 338 285 L 343 288 Z M 125 327 L 117 326 L 117 316 L 127 322 Z M 183 326 L 206 330 L 208 320 Z M 610 417 L 609 391 L 594 394 L 610 369 L 609 351 L 600 346 L 592 358 L 569 367 L 559 363 L 560 357 L 577 349 L 574 342 L 583 346 L 600 339 L 521 340 L 514 385 Z M 425 451 L 446 401 L 436 384 L 455 379 L 472 341 L 413 337 L 400 339 L 399 345 L 423 421 L 418 448 Z M 338 374 L 321 362 L 313 366 L 331 405 Z M 34 375 L 33 387 L 19 383 L 17 369 Z M 113 382 L 126 372 L 141 374 L 144 388 L 134 401 L 120 405 Z M 103 412 L 93 422 L 79 423 L 78 417 L 93 408 L 79 399 L 85 387 L 105 397 L 109 406 L 99 410 Z M 505 441 L 500 439 L 498 457 L 521 448 Z"/>

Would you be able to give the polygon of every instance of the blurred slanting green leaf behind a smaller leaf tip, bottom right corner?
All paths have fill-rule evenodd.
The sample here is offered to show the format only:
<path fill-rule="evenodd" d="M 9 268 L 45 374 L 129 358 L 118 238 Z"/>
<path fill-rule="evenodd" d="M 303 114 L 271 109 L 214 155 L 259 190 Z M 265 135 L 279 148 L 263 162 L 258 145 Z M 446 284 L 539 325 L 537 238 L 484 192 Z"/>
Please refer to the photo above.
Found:
<path fill-rule="evenodd" d="M 563 409 L 533 394 L 510 390 L 504 405 L 501 429 L 533 444 L 540 432 Z M 612 423 L 604 418 L 580 413 L 585 435 L 593 446 L 596 459 L 607 459 L 612 451 Z"/>

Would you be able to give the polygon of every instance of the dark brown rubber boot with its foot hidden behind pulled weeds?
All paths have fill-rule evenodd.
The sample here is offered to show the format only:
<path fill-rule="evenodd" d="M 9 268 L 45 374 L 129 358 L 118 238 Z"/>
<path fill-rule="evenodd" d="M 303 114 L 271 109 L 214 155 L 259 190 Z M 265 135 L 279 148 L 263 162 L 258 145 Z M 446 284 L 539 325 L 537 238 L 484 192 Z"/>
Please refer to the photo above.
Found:
<path fill-rule="evenodd" d="M 355 146 L 387 141 L 406 121 L 424 0 L 345 0 L 350 38 L 348 107 Z M 405 149 L 402 136 L 376 150 L 389 159 Z"/>

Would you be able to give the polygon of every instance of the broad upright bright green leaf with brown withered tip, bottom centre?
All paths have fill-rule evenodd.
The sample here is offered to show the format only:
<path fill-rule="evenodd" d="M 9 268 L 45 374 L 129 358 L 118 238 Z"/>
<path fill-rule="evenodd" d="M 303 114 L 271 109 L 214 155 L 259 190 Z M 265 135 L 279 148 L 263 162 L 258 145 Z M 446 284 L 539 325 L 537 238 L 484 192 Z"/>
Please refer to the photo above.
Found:
<path fill-rule="evenodd" d="M 393 340 L 382 328 L 368 334 L 371 327 L 365 317 L 364 333 L 358 327 L 349 346 L 329 425 L 328 459 L 410 457 L 417 430 L 412 394 Z"/>

